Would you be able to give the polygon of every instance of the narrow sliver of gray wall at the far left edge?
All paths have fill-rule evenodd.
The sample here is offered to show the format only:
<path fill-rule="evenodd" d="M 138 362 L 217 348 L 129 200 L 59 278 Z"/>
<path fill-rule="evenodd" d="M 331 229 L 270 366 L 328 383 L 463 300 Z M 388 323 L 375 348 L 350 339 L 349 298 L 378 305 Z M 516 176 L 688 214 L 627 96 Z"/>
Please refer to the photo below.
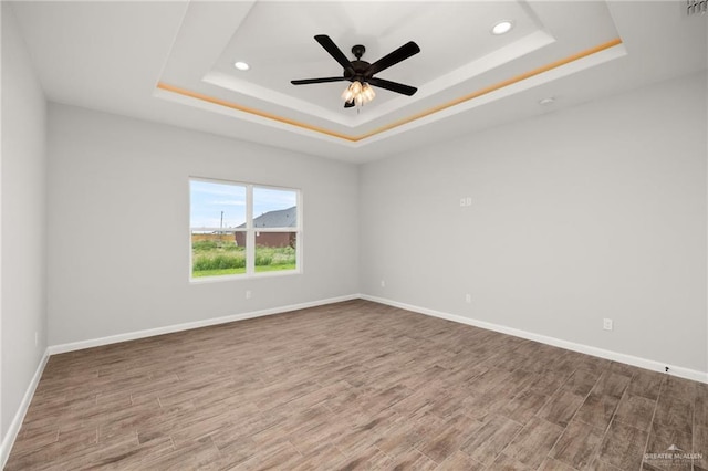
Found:
<path fill-rule="evenodd" d="M 12 8 L 6 2 L 1 8 L 0 411 L 4 438 L 46 348 L 46 105 Z"/>

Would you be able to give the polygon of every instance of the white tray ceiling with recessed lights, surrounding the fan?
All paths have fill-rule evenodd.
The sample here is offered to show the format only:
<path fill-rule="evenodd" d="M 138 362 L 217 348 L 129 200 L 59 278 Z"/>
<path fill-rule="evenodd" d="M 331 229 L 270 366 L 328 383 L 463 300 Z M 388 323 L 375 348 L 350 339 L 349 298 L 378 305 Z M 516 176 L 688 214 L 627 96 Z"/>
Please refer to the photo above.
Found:
<path fill-rule="evenodd" d="M 705 70 L 708 15 L 674 1 L 176 1 L 13 3 L 50 101 L 363 163 Z M 490 30 L 513 21 L 504 35 Z M 421 52 L 343 108 L 313 36 L 374 62 Z M 233 67 L 237 60 L 251 65 Z M 552 105 L 539 101 L 552 96 Z"/>

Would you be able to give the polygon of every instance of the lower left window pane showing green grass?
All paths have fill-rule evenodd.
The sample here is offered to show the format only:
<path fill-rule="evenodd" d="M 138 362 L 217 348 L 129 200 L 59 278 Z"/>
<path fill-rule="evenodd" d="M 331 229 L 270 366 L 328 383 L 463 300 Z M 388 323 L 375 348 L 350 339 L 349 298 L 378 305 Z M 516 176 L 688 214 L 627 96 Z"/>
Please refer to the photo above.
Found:
<path fill-rule="evenodd" d="M 246 273 L 246 232 L 191 233 L 194 278 Z"/>

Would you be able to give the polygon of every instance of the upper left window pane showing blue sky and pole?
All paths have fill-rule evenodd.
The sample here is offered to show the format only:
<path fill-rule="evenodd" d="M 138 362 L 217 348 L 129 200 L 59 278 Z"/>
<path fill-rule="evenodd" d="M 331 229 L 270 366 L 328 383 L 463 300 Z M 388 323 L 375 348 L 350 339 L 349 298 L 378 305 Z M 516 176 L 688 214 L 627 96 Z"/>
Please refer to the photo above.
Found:
<path fill-rule="evenodd" d="M 189 226 L 227 229 L 246 227 L 246 187 L 191 180 Z"/>

